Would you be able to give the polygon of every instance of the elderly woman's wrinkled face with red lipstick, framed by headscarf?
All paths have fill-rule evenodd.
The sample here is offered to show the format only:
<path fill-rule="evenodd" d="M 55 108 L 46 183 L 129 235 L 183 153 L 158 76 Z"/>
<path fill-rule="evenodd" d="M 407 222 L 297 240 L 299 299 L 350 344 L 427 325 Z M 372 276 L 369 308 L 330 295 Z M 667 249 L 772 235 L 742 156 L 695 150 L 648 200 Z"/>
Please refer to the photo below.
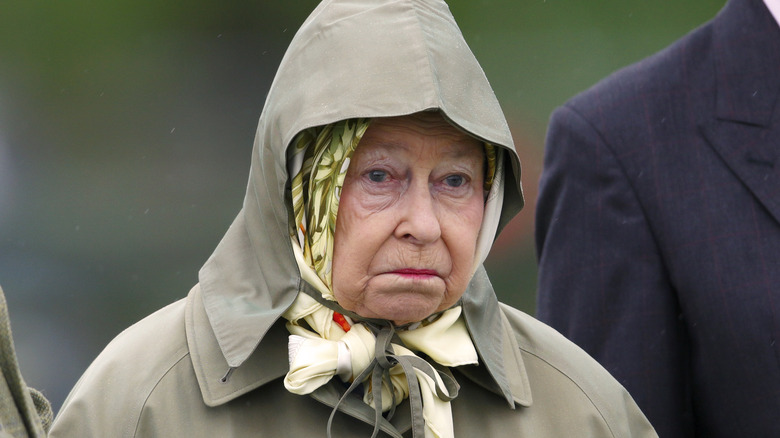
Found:
<path fill-rule="evenodd" d="M 483 163 L 482 144 L 437 113 L 374 119 L 339 202 L 339 304 L 397 325 L 455 304 L 473 274 Z"/>

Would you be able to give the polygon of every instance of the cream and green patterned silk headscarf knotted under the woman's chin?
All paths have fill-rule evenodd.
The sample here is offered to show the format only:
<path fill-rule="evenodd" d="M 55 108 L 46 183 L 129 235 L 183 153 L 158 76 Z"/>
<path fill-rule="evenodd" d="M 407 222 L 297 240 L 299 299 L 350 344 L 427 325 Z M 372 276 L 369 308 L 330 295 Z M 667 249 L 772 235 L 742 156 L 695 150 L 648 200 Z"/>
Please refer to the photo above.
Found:
<path fill-rule="evenodd" d="M 338 204 L 350 158 L 369 123 L 369 119 L 350 119 L 310 128 L 301 132 L 290 148 L 288 170 L 294 175 L 295 216 L 295 229 L 290 230 L 292 244 L 302 277 L 321 297 L 301 293 L 283 314 L 291 334 L 285 387 L 296 394 L 308 394 L 339 376 L 351 384 L 345 396 L 363 385 L 364 402 L 377 412 L 375 433 L 381 412 L 390 411 L 388 416 L 392 416 L 395 407 L 410 398 L 415 436 L 424 430 L 426 438 L 452 437 L 449 402 L 457 395 L 458 386 L 441 366 L 478 362 L 460 305 L 395 332 L 392 323 L 375 325 L 335 303 L 331 268 Z M 496 148 L 485 143 L 486 193 L 492 193 L 498 156 Z M 477 258 L 481 263 L 483 257 Z M 394 333 L 400 342 L 393 338 Z M 415 351 L 425 353 L 435 367 Z M 381 391 L 374 391 L 377 387 Z M 421 406 L 415 406 L 420 398 Z M 419 410 L 421 415 L 415 412 Z"/>

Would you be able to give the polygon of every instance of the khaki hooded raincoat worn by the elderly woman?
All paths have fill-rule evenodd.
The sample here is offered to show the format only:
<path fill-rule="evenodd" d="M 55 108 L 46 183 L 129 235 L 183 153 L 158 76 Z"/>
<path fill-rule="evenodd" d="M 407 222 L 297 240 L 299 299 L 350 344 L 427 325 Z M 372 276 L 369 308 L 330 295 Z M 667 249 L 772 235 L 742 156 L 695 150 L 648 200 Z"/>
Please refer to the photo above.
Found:
<path fill-rule="evenodd" d="M 288 146 L 299 132 L 351 118 L 438 110 L 500 148 L 508 163 L 498 227 L 522 207 L 520 163 L 485 75 L 441 0 L 325 0 L 285 54 L 252 152 L 244 205 L 187 298 L 120 334 L 65 401 L 52 437 L 325 436 L 345 391 L 331 381 L 288 392 L 288 332 L 299 293 Z M 454 368 L 458 437 L 646 437 L 626 391 L 579 348 L 499 304 L 477 269 L 462 298 L 479 365 Z M 334 379 L 335 380 L 335 379 Z M 408 400 L 379 435 L 411 436 Z M 335 437 L 368 437 L 371 406 L 338 405 Z"/>

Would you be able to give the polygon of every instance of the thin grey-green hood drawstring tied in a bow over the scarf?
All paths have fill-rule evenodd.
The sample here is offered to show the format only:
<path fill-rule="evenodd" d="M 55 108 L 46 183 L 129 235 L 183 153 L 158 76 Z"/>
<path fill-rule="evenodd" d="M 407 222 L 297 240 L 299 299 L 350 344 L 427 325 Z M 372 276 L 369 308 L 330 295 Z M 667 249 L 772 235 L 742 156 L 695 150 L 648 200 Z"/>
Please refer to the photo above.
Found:
<path fill-rule="evenodd" d="M 371 324 L 366 325 L 370 327 L 372 331 L 376 332 L 376 328 Z M 423 418 L 422 414 L 422 394 L 420 393 L 420 386 L 418 384 L 417 375 L 415 374 L 415 369 L 424 373 L 430 377 L 431 380 L 433 380 L 434 384 L 436 385 L 436 395 L 440 400 L 449 402 L 458 396 L 458 390 L 460 389 L 460 386 L 458 385 L 458 382 L 455 381 L 455 377 L 453 377 L 452 373 L 447 368 L 434 368 L 434 366 L 420 357 L 394 354 L 392 346 L 390 345 L 394 335 L 395 327 L 393 324 L 384 326 L 379 329 L 378 333 L 376 334 L 374 359 L 371 361 L 368 367 L 366 367 L 366 369 L 363 370 L 360 375 L 354 379 L 352 384 L 349 386 L 349 388 L 347 388 L 346 392 L 344 392 L 344 395 L 341 396 L 338 403 L 336 403 L 336 406 L 333 407 L 333 410 L 330 413 L 327 428 L 328 438 L 332 438 L 331 427 L 333 425 L 333 418 L 336 416 L 336 412 L 338 411 L 339 406 L 347 398 L 347 396 L 349 396 L 349 394 L 351 394 L 355 388 L 358 387 L 358 385 L 363 383 L 363 381 L 368 378 L 369 375 L 371 375 L 371 388 L 373 388 L 372 395 L 374 399 L 373 401 L 375 411 L 374 430 L 371 434 L 371 438 L 376 438 L 377 434 L 379 433 L 379 422 L 382 418 L 382 383 L 387 382 L 388 386 L 392 388 L 392 383 L 390 382 L 390 368 L 394 367 L 395 365 L 401 365 L 409 386 L 409 404 L 412 411 L 412 436 L 414 438 L 422 438 L 425 436 L 425 419 Z M 446 392 L 444 388 L 439 385 L 439 381 L 436 379 L 437 372 L 438 376 L 441 378 L 441 381 L 444 383 Z M 388 421 L 393 418 L 396 406 L 395 392 L 390 391 L 390 393 L 393 397 L 393 403 L 391 403 L 390 411 L 387 414 Z"/>

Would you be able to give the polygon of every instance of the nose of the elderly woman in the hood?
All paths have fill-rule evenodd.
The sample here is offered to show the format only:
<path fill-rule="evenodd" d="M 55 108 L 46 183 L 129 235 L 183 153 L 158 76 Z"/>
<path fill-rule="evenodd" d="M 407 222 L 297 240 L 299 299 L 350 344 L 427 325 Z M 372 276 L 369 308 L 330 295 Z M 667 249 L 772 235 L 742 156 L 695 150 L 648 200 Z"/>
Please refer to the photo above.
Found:
<path fill-rule="evenodd" d="M 396 237 L 417 245 L 437 241 L 441 237 L 441 224 L 428 182 L 411 185 L 401 196 L 404 199 L 399 203 Z"/>

